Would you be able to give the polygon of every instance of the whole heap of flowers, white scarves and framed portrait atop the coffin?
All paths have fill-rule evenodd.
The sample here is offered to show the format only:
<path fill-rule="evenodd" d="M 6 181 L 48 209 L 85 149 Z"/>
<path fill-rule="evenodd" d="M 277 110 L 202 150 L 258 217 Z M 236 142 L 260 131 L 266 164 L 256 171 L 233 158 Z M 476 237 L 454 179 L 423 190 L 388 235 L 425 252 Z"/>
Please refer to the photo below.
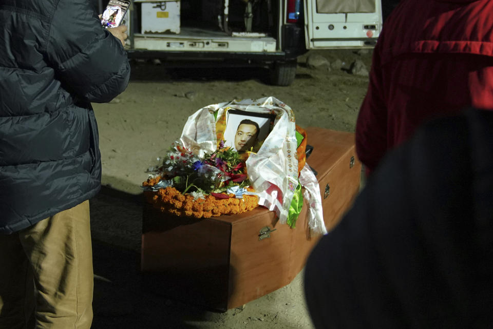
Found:
<path fill-rule="evenodd" d="M 161 211 L 184 217 L 261 205 L 292 228 L 305 203 L 310 228 L 325 234 L 318 181 L 305 162 L 306 133 L 298 130 L 293 110 L 274 97 L 203 107 L 151 168 L 144 195 Z"/>

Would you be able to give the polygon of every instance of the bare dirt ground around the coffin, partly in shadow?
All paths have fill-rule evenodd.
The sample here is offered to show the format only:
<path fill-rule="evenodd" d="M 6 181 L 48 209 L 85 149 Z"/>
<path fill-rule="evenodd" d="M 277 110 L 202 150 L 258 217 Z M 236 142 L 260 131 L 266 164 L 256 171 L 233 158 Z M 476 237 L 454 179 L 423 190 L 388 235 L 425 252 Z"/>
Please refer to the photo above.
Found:
<path fill-rule="evenodd" d="M 309 55 L 325 57 L 335 69 L 309 68 Z M 266 72 L 259 69 L 168 70 L 139 63 L 132 66 L 125 92 L 111 103 L 93 104 L 103 163 L 103 189 L 91 200 L 93 328 L 312 328 L 302 273 L 288 286 L 225 313 L 144 289 L 139 273 L 140 185 L 147 167 L 180 137 L 187 117 L 210 104 L 274 96 L 294 110 L 301 127 L 354 131 L 368 85 L 367 76 L 350 73 L 349 65 L 356 60 L 369 70 L 371 51 L 309 52 L 299 58 L 289 87 L 264 83 L 261 76 Z M 344 62 L 342 69 L 338 61 Z"/>

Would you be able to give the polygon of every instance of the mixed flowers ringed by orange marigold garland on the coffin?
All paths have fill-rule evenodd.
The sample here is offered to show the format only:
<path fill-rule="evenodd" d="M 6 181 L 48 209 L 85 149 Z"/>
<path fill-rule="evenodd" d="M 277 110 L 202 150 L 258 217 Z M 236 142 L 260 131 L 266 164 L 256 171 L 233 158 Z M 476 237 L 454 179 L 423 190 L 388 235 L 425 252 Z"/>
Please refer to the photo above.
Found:
<path fill-rule="evenodd" d="M 223 141 L 203 157 L 175 142 L 162 164 L 148 170 L 144 195 L 161 211 L 177 216 L 208 218 L 252 210 L 258 196 L 247 177 L 247 156 Z"/>

